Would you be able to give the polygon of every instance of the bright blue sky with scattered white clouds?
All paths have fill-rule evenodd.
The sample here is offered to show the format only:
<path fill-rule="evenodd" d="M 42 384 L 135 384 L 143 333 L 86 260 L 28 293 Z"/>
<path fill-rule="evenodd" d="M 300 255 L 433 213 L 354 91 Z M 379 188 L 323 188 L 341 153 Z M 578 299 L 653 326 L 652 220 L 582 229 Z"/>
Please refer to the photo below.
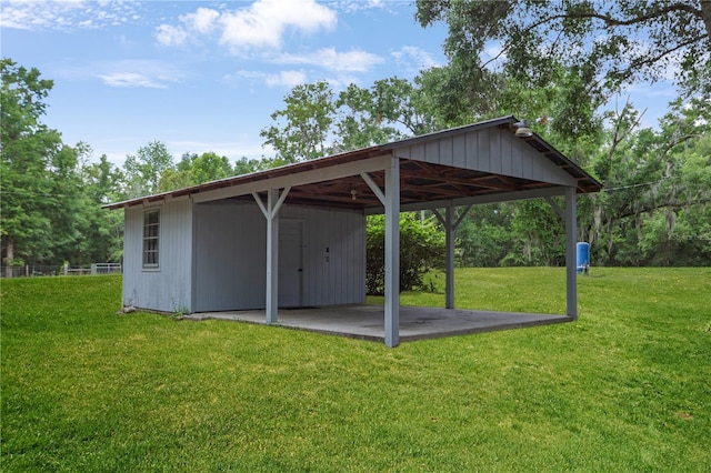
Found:
<path fill-rule="evenodd" d="M 2 57 L 54 81 L 44 123 L 119 165 L 152 140 L 176 160 L 270 157 L 259 132 L 292 87 L 338 92 L 445 63 L 445 26 L 421 28 L 409 0 L 2 0 L 1 13 Z M 675 97 L 640 84 L 620 107 L 628 93 L 645 127 Z"/>

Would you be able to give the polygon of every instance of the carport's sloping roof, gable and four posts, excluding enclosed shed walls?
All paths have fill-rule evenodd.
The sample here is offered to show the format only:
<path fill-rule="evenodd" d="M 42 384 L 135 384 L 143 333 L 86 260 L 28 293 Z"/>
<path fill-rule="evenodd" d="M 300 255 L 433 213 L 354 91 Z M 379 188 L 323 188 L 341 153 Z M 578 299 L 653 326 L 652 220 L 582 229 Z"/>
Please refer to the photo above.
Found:
<path fill-rule="evenodd" d="M 545 199 L 565 222 L 567 313 L 558 319 L 565 321 L 578 316 L 577 194 L 600 189 L 598 181 L 532 133 L 525 123 L 504 117 L 108 207 L 150 205 L 179 199 L 189 199 L 192 205 L 221 200 L 256 202 L 267 222 L 263 322 L 268 324 L 280 322 L 279 213 L 282 205 L 384 213 L 385 293 L 379 330 L 384 343 L 395 346 L 401 329 L 400 212 L 431 210 L 443 224 L 447 232 L 444 309 L 453 311 L 454 238 L 469 208 Z M 564 204 L 559 205 L 554 197 L 563 197 Z M 463 208 L 459 215 L 457 208 Z"/>

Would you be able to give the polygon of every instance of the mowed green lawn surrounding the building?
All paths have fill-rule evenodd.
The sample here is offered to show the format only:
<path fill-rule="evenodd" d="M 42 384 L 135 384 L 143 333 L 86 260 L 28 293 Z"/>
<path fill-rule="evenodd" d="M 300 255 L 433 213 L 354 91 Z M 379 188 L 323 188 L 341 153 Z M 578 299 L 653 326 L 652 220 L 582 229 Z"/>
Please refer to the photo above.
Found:
<path fill-rule="evenodd" d="M 457 303 L 563 312 L 563 269 L 458 270 Z M 388 349 L 116 315 L 116 276 L 3 280 L 0 466 L 710 471 L 711 269 L 579 282 L 578 322 Z"/>

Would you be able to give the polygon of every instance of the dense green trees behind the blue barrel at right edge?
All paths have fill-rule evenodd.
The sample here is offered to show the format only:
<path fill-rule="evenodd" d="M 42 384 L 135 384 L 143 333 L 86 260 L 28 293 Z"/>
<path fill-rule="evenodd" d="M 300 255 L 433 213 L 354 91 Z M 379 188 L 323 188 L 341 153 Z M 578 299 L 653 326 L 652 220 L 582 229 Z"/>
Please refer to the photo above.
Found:
<path fill-rule="evenodd" d="M 581 236 L 599 264 L 711 261 L 703 236 L 711 225 L 711 104 L 675 100 L 670 109 L 659 131 L 640 130 L 630 103 L 608 113 L 612 125 L 591 162 L 604 189 L 579 207 Z"/>

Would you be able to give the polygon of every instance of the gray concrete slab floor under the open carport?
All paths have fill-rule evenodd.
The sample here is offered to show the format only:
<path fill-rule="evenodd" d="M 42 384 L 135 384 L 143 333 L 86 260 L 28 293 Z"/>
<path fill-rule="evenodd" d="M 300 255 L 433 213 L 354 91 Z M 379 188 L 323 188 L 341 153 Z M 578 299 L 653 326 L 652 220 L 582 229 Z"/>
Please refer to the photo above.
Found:
<path fill-rule="evenodd" d="M 186 319 L 267 324 L 263 310 L 203 312 L 187 315 Z M 572 320 L 568 315 L 400 306 L 400 341 L 521 329 Z M 384 341 L 384 311 L 381 305 L 280 309 L 279 321 L 274 325 L 360 340 Z"/>

